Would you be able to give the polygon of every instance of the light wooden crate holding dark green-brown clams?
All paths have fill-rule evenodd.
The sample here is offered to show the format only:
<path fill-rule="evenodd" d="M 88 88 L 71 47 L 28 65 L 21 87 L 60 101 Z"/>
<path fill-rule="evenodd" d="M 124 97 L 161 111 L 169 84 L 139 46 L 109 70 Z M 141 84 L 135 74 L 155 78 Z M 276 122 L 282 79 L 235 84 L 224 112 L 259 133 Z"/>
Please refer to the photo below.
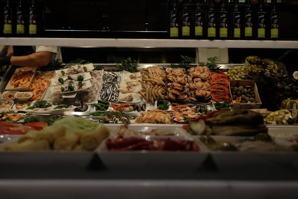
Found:
<path fill-rule="evenodd" d="M 254 104 L 237 103 L 235 100 L 233 100 L 233 109 L 260 109 L 262 102 L 257 89 L 257 85 L 254 80 L 230 80 L 230 89 L 231 87 L 239 87 L 239 86 L 246 87 L 248 85 L 254 88 L 254 94 L 256 95 L 255 100 L 257 103 L 254 103 Z"/>

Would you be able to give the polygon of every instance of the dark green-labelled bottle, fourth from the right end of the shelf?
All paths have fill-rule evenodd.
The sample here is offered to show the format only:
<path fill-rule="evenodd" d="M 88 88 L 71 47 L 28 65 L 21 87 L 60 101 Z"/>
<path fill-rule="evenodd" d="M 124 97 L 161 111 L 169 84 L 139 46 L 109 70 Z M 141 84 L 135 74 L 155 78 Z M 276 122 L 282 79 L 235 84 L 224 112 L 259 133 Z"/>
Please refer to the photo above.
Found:
<path fill-rule="evenodd" d="M 240 19 L 241 19 L 241 12 L 239 11 L 239 2 L 238 0 L 234 0 L 234 9 L 232 12 L 232 38 L 233 39 L 240 39 L 240 35 L 241 35 L 241 23 L 240 23 Z"/>

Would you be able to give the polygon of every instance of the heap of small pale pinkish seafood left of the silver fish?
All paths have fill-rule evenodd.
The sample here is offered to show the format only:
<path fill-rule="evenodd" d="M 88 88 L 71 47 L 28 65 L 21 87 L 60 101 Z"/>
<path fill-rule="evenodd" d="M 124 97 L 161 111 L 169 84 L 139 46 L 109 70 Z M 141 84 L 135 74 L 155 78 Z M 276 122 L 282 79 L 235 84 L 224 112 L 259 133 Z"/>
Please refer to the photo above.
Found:
<path fill-rule="evenodd" d="M 93 104 L 98 99 L 100 85 L 103 78 L 103 70 L 91 70 L 89 73 L 91 75 L 91 79 L 89 79 L 91 87 L 80 90 L 77 93 L 77 100 L 81 100 L 86 104 Z M 85 73 L 82 73 L 81 75 L 85 75 Z"/>

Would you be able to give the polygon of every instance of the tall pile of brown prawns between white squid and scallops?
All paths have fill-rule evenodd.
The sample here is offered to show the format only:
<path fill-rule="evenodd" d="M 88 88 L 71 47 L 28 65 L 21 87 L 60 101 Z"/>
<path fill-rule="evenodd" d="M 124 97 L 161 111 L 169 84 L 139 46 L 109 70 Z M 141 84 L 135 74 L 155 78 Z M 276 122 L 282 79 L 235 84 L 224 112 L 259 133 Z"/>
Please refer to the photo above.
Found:
<path fill-rule="evenodd" d="M 154 104 L 159 97 L 162 100 L 169 100 L 167 95 L 166 74 L 158 67 L 147 67 L 140 71 L 142 74 L 142 86 L 144 89 L 139 91 L 145 101 Z"/>

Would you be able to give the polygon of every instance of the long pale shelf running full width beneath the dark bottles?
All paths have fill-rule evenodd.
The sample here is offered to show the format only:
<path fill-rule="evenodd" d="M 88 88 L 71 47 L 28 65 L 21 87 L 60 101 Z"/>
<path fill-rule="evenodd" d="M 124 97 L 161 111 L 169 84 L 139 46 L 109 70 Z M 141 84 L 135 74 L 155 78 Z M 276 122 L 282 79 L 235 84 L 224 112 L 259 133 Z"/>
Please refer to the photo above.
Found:
<path fill-rule="evenodd" d="M 298 48 L 298 41 L 183 40 L 111 38 L 0 38 L 1 45 L 63 47 L 156 47 L 156 48 Z"/>

